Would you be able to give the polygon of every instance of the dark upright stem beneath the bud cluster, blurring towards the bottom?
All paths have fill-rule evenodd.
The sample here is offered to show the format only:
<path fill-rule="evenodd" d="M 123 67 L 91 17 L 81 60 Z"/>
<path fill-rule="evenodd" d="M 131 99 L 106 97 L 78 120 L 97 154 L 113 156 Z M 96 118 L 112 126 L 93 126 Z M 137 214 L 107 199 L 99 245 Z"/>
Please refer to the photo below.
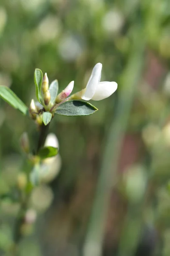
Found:
<path fill-rule="evenodd" d="M 38 144 L 37 144 L 37 153 L 40 151 L 40 148 L 45 143 L 45 139 L 48 134 L 48 129 L 49 129 L 49 124 L 46 126 L 44 124 L 42 124 L 40 126 L 40 136 L 39 136 L 39 140 L 38 140 Z M 29 182 L 29 180 L 28 180 L 28 182 Z M 14 224 L 14 233 L 13 233 L 14 247 L 12 248 L 13 256 L 17 256 L 17 254 L 18 254 L 18 244 L 19 244 L 20 240 L 22 239 L 21 228 L 25 221 L 25 215 L 26 215 L 26 211 L 28 209 L 28 203 L 29 203 L 31 191 L 32 190 L 30 190 L 27 193 L 24 193 L 23 197 L 21 196 L 20 209 L 17 214 L 16 222 Z"/>

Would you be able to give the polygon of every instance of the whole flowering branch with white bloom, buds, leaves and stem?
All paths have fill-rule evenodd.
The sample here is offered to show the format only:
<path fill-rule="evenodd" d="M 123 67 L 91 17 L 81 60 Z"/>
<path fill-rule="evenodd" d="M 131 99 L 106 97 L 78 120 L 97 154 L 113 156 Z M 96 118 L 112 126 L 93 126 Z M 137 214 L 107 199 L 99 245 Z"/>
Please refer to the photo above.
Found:
<path fill-rule="evenodd" d="M 36 69 L 34 72 L 34 83 L 38 101 L 34 102 L 34 99 L 32 99 L 29 109 L 8 87 L 0 86 L 0 97 L 12 107 L 20 110 L 25 116 L 30 116 L 40 131 L 39 140 L 34 152 L 30 151 L 29 139 L 26 133 L 22 135 L 20 140 L 23 152 L 26 154 L 32 167 L 28 173 L 23 173 L 24 180 L 22 180 L 18 189 L 20 210 L 14 225 L 14 244 L 11 248 L 12 255 L 17 255 L 18 244 L 23 237 L 22 227 L 27 221 L 26 214 L 28 212 L 31 193 L 38 184 L 44 182 L 44 177 L 51 170 L 52 166 L 56 166 L 56 163 L 59 165 L 60 163 L 59 155 L 57 155 L 59 149 L 58 142 L 54 138 L 55 135 L 48 134 L 50 122 L 55 114 L 63 116 L 86 116 L 95 113 L 97 108 L 87 101 L 90 99 L 105 99 L 111 96 L 117 89 L 116 82 L 100 82 L 101 72 L 102 64 L 98 63 L 92 70 L 91 77 L 85 89 L 71 95 L 74 88 L 74 81 L 71 81 L 58 94 L 58 81 L 54 80 L 49 85 L 47 73 L 43 76 L 42 71 Z M 52 137 L 52 141 L 48 136 Z M 51 177 L 54 176 L 52 175 Z M 51 177 L 47 178 L 47 180 L 51 179 Z"/>

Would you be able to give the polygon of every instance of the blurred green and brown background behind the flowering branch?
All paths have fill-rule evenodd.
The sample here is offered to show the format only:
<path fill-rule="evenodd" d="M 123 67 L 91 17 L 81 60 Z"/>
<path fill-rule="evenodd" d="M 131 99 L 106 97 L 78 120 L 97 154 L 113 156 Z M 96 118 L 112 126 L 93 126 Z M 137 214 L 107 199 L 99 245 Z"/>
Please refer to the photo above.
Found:
<path fill-rule="evenodd" d="M 75 93 L 97 62 L 118 89 L 91 116 L 51 122 L 62 166 L 31 196 L 20 256 L 170 255 L 170 1 L 0 1 L 0 84 L 26 105 L 35 68 Z M 34 122 L 0 99 L 0 195 L 22 182 L 24 131 L 34 148 Z M 2 256 L 17 211 L 1 198 Z"/>

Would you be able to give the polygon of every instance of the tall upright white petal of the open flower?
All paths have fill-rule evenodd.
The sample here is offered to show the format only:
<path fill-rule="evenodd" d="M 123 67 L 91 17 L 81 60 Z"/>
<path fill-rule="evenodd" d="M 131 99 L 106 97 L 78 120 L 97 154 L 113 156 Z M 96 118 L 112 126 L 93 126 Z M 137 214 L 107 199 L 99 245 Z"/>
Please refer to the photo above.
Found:
<path fill-rule="evenodd" d="M 85 91 L 85 94 L 82 96 L 82 99 L 84 100 L 92 99 L 96 91 L 97 84 L 100 81 L 101 72 L 102 72 L 102 64 L 97 63 L 92 70 L 91 77 L 88 80 L 86 91 Z"/>

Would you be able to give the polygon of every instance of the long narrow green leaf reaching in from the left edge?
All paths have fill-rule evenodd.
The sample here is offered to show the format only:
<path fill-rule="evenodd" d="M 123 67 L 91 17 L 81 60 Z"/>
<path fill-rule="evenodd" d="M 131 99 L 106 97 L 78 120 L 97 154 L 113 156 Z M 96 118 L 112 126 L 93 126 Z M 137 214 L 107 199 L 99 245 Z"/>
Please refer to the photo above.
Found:
<path fill-rule="evenodd" d="M 0 97 L 8 102 L 13 108 L 19 109 L 24 115 L 28 112 L 27 106 L 8 87 L 0 85 Z"/>

